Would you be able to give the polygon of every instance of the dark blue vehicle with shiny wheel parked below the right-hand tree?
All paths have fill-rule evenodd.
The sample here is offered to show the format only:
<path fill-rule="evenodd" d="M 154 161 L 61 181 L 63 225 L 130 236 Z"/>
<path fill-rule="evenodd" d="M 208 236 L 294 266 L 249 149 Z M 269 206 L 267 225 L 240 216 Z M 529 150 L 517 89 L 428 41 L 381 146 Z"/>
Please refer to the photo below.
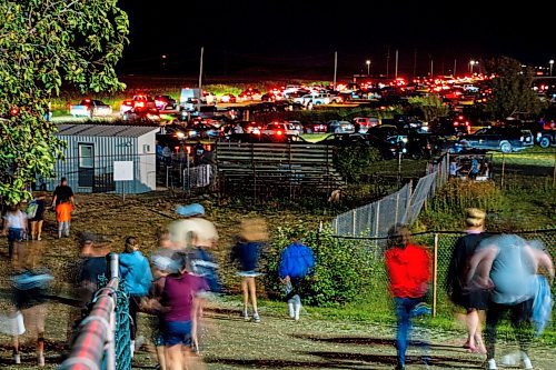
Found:
<path fill-rule="evenodd" d="M 510 153 L 533 146 L 534 138 L 529 130 L 489 127 L 464 137 L 459 144 L 466 149 L 488 149 Z"/>

